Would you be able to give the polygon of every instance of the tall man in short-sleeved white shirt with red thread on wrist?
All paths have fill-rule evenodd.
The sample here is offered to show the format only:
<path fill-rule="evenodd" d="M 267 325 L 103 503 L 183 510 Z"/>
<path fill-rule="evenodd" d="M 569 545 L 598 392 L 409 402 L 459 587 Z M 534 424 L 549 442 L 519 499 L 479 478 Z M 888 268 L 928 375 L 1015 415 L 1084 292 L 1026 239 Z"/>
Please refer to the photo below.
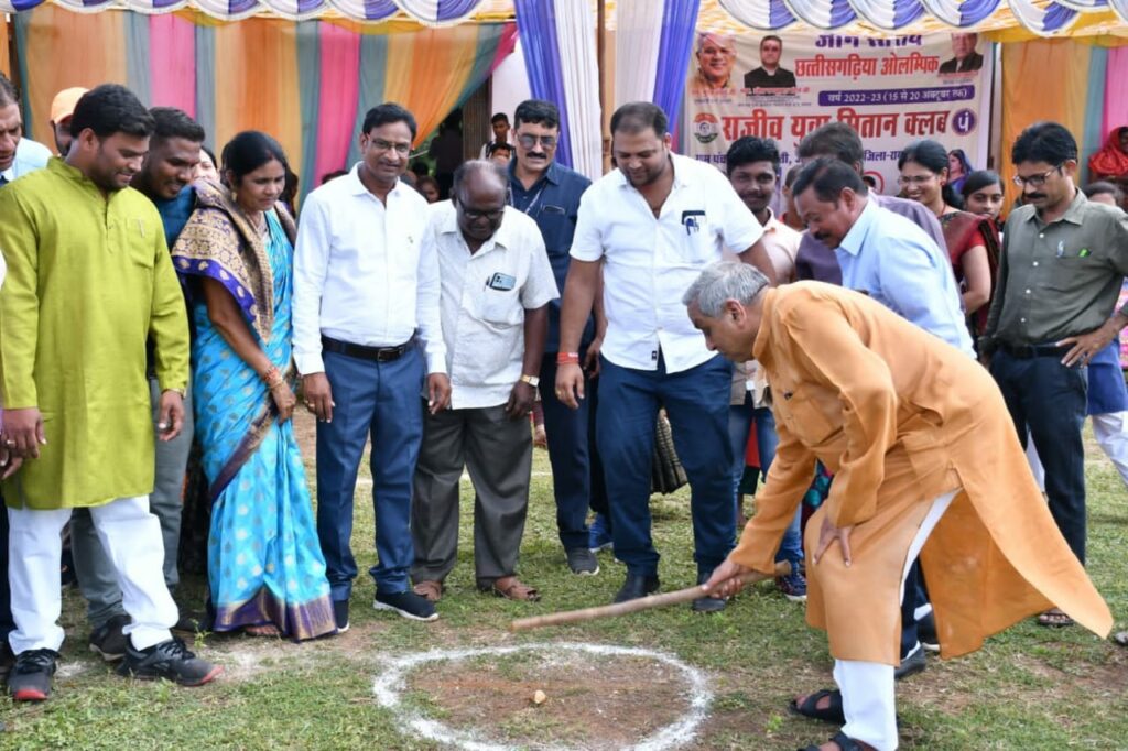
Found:
<path fill-rule="evenodd" d="M 705 346 L 679 299 L 725 246 L 775 280 L 764 229 L 715 168 L 670 152 L 667 117 L 633 103 L 611 117 L 618 169 L 583 194 L 572 241 L 557 355 L 557 396 L 584 396 L 580 336 L 603 272 L 603 339 L 597 408 L 600 457 L 610 498 L 615 557 L 627 566 L 622 602 L 655 592 L 658 551 L 650 533 L 651 453 L 660 406 L 693 489 L 698 581 L 724 560 L 735 538 L 729 383 L 732 369 Z M 699 612 L 724 608 L 702 598 Z"/>

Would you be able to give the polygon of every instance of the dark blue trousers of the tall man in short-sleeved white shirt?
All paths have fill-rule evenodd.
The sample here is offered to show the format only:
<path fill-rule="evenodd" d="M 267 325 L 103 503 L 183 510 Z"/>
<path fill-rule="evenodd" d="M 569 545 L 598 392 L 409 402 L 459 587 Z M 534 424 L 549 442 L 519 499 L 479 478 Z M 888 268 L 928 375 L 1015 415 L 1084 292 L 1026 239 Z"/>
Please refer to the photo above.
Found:
<path fill-rule="evenodd" d="M 658 573 L 651 538 L 650 488 L 659 407 L 673 428 L 673 447 L 689 478 L 694 560 L 708 574 L 732 549 L 737 509 L 729 442 L 732 366 L 715 356 L 680 373 L 620 368 L 602 360 L 596 431 L 610 500 L 615 557 L 640 576 Z"/>

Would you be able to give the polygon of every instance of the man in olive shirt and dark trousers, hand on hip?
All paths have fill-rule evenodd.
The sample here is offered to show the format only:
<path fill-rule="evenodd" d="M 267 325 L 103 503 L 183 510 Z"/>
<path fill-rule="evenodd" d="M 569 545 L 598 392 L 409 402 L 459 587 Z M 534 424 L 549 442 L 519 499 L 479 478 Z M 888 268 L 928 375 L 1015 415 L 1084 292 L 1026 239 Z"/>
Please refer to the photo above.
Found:
<path fill-rule="evenodd" d="M 1030 431 L 1050 512 L 1084 563 L 1085 369 L 1128 325 L 1128 310 L 1116 310 L 1128 274 L 1128 217 L 1077 189 L 1077 142 L 1057 123 L 1023 131 L 1011 161 L 1024 205 L 1006 222 L 980 352 L 992 357 L 1019 436 Z M 1068 621 L 1051 611 L 1040 622 Z"/>

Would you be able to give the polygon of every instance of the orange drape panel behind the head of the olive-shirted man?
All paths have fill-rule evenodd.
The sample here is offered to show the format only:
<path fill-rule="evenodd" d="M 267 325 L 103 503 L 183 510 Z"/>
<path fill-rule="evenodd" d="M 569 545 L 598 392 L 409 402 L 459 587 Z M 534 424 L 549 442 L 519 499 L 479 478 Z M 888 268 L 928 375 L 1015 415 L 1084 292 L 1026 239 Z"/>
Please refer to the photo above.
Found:
<path fill-rule="evenodd" d="M 1085 132 L 1090 47 L 1070 39 L 1038 39 L 1003 45 L 1003 145 L 999 173 L 1007 191 L 1008 211 L 1020 191 L 1013 185 L 1011 147 L 1033 123 L 1054 121 L 1077 139 Z"/>

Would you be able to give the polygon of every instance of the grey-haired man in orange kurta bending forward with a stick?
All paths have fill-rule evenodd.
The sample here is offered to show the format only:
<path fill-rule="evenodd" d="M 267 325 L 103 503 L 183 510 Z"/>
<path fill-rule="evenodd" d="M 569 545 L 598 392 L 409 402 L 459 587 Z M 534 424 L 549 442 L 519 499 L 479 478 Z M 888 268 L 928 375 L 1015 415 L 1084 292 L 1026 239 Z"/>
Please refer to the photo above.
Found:
<path fill-rule="evenodd" d="M 846 718 L 822 749 L 897 748 L 898 603 L 918 554 L 944 657 L 1051 606 L 1109 633 L 973 360 L 863 294 L 768 289 L 740 264 L 706 268 L 685 303 L 711 348 L 763 365 L 779 432 L 756 515 L 705 589 L 729 595 L 741 574 L 773 572 L 816 460 L 835 474 L 807 531 L 808 622 L 827 630 Z"/>

